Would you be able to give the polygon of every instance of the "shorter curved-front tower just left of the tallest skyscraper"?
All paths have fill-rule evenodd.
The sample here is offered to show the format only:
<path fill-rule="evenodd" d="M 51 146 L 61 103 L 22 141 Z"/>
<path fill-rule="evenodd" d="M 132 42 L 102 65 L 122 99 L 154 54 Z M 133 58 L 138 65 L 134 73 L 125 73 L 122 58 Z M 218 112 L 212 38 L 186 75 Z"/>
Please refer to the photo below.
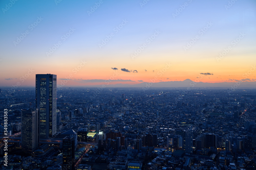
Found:
<path fill-rule="evenodd" d="M 33 153 L 39 146 L 38 109 L 21 110 L 21 146 L 24 152 Z"/>

